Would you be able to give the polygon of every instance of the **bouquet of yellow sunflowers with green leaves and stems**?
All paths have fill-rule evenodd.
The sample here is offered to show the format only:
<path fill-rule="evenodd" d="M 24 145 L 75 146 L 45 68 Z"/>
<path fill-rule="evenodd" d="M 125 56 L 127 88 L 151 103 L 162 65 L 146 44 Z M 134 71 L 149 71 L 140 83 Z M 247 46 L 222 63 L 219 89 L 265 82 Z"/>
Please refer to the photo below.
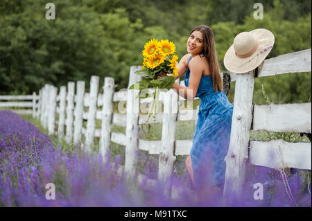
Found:
<path fill-rule="evenodd" d="M 178 76 L 178 57 L 174 54 L 175 45 L 173 42 L 169 42 L 168 39 L 162 39 L 160 41 L 157 39 L 150 39 L 150 41 L 145 44 L 142 53 L 144 56 L 143 67 L 141 70 L 135 72 L 142 77 L 141 81 L 135 83 L 139 84 L 139 94 L 137 98 L 153 97 L 146 122 L 150 116 L 153 116 L 155 121 L 160 91 L 164 89 L 168 91 L 171 89 L 175 82 L 175 76 Z M 162 76 L 163 73 L 167 73 L 169 76 L 158 78 L 158 76 Z M 131 85 L 129 89 L 135 89 L 135 84 Z M 141 93 L 144 89 L 148 88 L 155 88 L 154 93 Z"/>

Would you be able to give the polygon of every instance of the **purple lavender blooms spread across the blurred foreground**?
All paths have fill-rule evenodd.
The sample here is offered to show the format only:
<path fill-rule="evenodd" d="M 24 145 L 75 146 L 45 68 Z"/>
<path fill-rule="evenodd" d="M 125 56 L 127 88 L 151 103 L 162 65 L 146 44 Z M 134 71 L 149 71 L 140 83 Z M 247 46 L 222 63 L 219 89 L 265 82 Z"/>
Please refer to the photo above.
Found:
<path fill-rule="evenodd" d="M 224 206 L 222 191 L 191 191 L 185 182 L 189 177 L 171 177 L 177 193 L 167 197 L 162 184 L 146 190 L 145 184 L 125 181 L 117 172 L 120 157 L 103 163 L 100 154 L 91 157 L 71 145 L 64 151 L 51 143 L 17 114 L 0 111 L 0 206 Z M 254 172 L 250 174 L 257 176 L 250 176 L 235 206 L 311 206 L 311 193 L 300 192 L 296 179 L 286 180 L 293 191 L 291 200 L 284 179 L 268 183 L 267 169 Z M 254 200 L 252 185 L 259 182 L 264 200 Z M 46 199 L 48 183 L 55 184 L 55 200 Z"/>

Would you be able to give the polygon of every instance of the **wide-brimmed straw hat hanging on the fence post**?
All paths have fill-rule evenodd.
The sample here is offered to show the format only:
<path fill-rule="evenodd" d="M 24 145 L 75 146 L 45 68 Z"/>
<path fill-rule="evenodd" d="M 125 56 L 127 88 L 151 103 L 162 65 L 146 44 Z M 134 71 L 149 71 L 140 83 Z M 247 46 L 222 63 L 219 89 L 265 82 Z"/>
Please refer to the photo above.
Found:
<path fill-rule="evenodd" d="M 224 57 L 225 68 L 234 73 L 246 73 L 258 67 L 274 44 L 270 30 L 254 29 L 236 35 Z"/>

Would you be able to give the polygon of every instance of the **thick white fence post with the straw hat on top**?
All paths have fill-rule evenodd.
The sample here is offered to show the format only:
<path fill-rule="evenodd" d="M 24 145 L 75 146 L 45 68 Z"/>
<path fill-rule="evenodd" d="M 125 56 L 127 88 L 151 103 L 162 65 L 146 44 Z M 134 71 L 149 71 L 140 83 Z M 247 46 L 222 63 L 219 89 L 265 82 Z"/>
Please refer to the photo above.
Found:
<path fill-rule="evenodd" d="M 254 70 L 248 73 L 236 73 L 231 139 L 225 157 L 227 165 L 223 193 L 225 204 L 232 204 L 239 199 L 243 189 L 252 123 L 253 91 Z"/>

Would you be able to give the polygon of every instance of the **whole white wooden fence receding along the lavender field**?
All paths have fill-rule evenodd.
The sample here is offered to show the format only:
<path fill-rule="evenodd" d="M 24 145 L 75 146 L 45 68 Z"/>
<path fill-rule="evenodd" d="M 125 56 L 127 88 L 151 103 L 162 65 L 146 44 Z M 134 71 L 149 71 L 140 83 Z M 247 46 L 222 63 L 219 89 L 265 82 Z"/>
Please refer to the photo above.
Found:
<path fill-rule="evenodd" d="M 128 87 L 141 80 L 135 74 L 138 69 L 141 67 L 130 68 Z M 257 76 L 254 76 L 254 71 L 243 74 L 229 73 L 231 81 L 236 81 L 236 87 L 231 139 L 225 158 L 227 163 L 225 196 L 241 193 L 248 159 L 249 163 L 258 166 L 270 168 L 284 166 L 311 170 L 311 143 L 288 143 L 282 140 L 250 141 L 250 130 L 311 134 L 311 103 L 283 105 L 254 105 L 252 103 L 255 77 L 308 71 L 311 71 L 311 48 L 265 60 Z M 176 82 L 180 82 L 180 79 Z M 94 138 L 100 138 L 99 150 L 103 159 L 106 159 L 107 151 L 110 150 L 110 142 L 124 145 L 125 174 L 128 177 L 137 177 L 139 183 L 143 182 L 146 177 L 136 173 L 135 153 L 137 150 L 159 154 L 158 179 L 166 180 L 172 173 L 175 156 L 189 154 L 192 145 L 192 140 L 175 139 L 175 124 L 177 121 L 189 120 L 196 123 L 198 107 L 196 110 L 192 107 L 182 109 L 180 105 L 190 100 L 177 96 L 171 89 L 168 93 L 162 92 L 159 96 L 160 102 L 164 104 L 164 113 L 159 112 L 155 121 L 150 118 L 146 122 L 148 112 L 146 103 L 149 104 L 151 98 L 135 99 L 138 93 L 135 89 L 114 91 L 116 87 L 114 78 L 107 77 L 103 83 L 103 94 L 98 93 L 98 76 L 92 76 L 89 92 L 85 92 L 83 81 L 78 81 L 76 84 L 68 82 L 67 87 L 62 86 L 59 91 L 53 85 L 45 85 L 40 90 L 38 103 L 33 104 L 34 116 L 40 118 L 42 125 L 49 129 L 49 134 L 58 135 L 67 143 L 81 143 L 85 136 L 83 144 L 88 151 L 94 144 Z M 184 82 L 180 83 L 184 85 Z M 122 113 L 112 111 L 114 102 L 118 102 Z M 86 107 L 87 112 L 84 110 Z M 102 109 L 99 110 L 98 108 L 101 107 Z M 142 112 L 145 111 L 146 114 L 139 114 L 139 109 Z M 59 118 L 55 121 L 57 113 Z M 96 120 L 101 120 L 101 129 L 96 129 Z M 83 121 L 87 121 L 87 127 L 83 127 Z M 162 122 L 161 141 L 139 139 L 139 125 L 160 122 Z M 111 123 L 125 127 L 125 134 L 111 132 Z M 250 154 L 248 154 L 248 149 Z M 146 184 L 154 186 L 156 180 L 147 179 Z M 170 191 L 169 186 L 166 191 Z"/>

